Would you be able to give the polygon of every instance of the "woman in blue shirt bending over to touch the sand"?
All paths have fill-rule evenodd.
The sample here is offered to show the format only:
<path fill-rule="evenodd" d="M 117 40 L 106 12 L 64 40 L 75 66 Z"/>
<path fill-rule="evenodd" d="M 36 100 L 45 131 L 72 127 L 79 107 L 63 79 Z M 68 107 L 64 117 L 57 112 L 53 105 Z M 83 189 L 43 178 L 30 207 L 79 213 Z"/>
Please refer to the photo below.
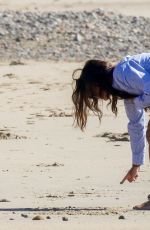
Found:
<path fill-rule="evenodd" d="M 126 56 L 115 66 L 106 61 L 88 60 L 80 77 L 74 80 L 76 84 L 72 100 L 75 120 L 81 130 L 86 127 L 89 110 L 97 113 L 99 119 L 102 118 L 99 100 L 108 100 L 115 115 L 118 99 L 124 100 L 129 119 L 132 167 L 121 183 L 125 180 L 135 181 L 144 163 L 146 137 L 150 144 L 150 123 L 145 132 L 144 118 L 145 110 L 150 107 L 150 53 Z M 150 209 L 150 201 L 134 208 Z"/>

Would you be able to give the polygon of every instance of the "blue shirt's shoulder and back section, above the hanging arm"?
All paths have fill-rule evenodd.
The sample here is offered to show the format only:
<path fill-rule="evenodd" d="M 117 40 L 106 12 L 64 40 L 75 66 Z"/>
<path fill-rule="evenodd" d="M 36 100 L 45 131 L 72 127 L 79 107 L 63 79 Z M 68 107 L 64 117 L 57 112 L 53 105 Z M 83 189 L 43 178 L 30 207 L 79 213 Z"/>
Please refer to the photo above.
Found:
<path fill-rule="evenodd" d="M 150 93 L 150 55 L 127 56 L 118 63 L 113 72 L 113 87 L 135 95 Z"/>

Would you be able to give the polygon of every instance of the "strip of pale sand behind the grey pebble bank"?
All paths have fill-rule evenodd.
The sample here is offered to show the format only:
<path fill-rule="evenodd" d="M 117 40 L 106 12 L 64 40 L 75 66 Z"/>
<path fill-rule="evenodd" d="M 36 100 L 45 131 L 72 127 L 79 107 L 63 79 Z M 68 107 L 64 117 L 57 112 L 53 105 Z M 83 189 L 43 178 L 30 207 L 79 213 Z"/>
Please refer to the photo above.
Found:
<path fill-rule="evenodd" d="M 150 0 L 0 0 L 1 10 L 78 11 L 96 8 L 150 17 Z"/>

